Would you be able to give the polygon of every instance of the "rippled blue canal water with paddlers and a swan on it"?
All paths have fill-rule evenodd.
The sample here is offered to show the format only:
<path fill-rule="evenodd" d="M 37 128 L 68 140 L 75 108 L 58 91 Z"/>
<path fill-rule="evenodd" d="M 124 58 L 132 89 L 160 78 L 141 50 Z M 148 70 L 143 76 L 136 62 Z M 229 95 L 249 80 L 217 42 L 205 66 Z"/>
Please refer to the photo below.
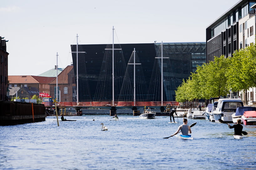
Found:
<path fill-rule="evenodd" d="M 167 116 L 139 119 L 109 115 L 65 117 L 77 121 L 46 121 L 0 126 L 0 169 L 15 170 L 149 170 L 256 169 L 256 126 L 244 126 L 243 139 L 233 139 L 226 124 L 206 120 L 192 129 L 193 140 L 173 134 L 179 124 Z M 95 121 L 93 121 L 95 119 Z M 55 121 L 54 121 L 55 120 Z M 108 127 L 101 131 L 100 123 Z"/>

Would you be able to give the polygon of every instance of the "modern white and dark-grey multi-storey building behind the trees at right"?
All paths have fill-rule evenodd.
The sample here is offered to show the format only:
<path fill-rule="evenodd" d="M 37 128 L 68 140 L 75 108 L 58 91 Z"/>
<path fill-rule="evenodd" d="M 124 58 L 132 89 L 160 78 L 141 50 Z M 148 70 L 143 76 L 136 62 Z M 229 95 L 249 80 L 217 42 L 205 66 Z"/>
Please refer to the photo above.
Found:
<path fill-rule="evenodd" d="M 256 1 L 240 0 L 206 28 L 206 61 L 214 56 L 232 56 L 239 50 L 255 43 Z M 255 100 L 255 88 L 241 95 L 243 100 Z"/>

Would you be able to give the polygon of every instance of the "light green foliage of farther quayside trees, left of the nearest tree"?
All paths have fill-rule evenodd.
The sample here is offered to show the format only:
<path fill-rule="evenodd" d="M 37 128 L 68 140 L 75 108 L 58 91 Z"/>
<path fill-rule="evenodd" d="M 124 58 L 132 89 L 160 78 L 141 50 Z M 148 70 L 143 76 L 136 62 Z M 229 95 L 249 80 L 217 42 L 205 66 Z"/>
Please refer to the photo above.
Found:
<path fill-rule="evenodd" d="M 215 57 L 214 61 L 204 63 L 197 66 L 195 73 L 191 73 L 190 77 L 183 80 L 176 92 L 176 101 L 184 102 L 186 100 L 211 97 L 220 97 L 227 95 L 229 86 L 226 72 L 230 65 L 230 58 L 224 56 Z"/>

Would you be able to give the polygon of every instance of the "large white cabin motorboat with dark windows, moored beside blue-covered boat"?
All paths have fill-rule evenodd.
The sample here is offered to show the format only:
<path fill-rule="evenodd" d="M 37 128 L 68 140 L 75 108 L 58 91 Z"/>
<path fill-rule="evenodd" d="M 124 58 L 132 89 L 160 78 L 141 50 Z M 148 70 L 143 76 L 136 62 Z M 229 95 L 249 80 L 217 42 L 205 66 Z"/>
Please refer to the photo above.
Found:
<path fill-rule="evenodd" d="M 219 122 L 219 119 L 233 122 L 232 114 L 236 112 L 238 107 L 243 107 L 243 102 L 240 99 L 219 99 L 216 109 L 212 111 L 215 122 Z"/>

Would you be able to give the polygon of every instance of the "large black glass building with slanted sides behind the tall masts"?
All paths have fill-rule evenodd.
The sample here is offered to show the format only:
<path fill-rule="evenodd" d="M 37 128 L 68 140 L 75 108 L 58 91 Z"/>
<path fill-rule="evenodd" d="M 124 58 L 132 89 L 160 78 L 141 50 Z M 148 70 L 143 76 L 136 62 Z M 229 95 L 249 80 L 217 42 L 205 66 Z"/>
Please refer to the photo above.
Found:
<path fill-rule="evenodd" d="M 106 48 L 107 44 L 95 45 L 78 45 L 78 77 L 79 77 L 79 101 L 111 101 L 112 95 L 105 95 L 102 92 L 101 98 L 98 98 L 99 82 L 102 80 L 102 72 L 106 72 Z M 111 45 L 112 46 L 112 45 Z M 116 48 L 116 47 L 115 47 Z M 122 53 L 124 60 L 118 59 L 116 64 L 127 67 L 131 54 L 136 49 L 136 53 L 141 62 L 141 70 L 145 76 L 147 85 L 147 101 L 161 101 L 161 63 L 159 61 L 159 50 L 161 51 L 161 43 L 146 44 L 120 44 L 120 51 L 115 50 L 114 55 Z M 76 69 L 76 45 L 71 45 L 72 59 L 74 64 L 74 74 L 77 75 Z M 160 52 L 161 53 L 161 52 Z M 206 62 L 206 43 L 205 42 L 179 42 L 179 43 L 163 43 L 163 56 L 165 63 L 163 68 L 163 101 L 175 101 L 175 90 L 182 83 L 183 79 L 187 79 L 191 72 L 196 71 L 196 67 Z M 158 57 L 158 58 L 156 58 Z M 111 59 L 110 59 L 111 60 Z M 123 63 L 124 62 L 124 63 Z M 122 70 L 123 72 L 123 70 Z M 124 71 L 125 72 L 125 71 Z M 156 73 L 157 72 L 157 73 Z M 154 75 L 153 75 L 154 74 Z M 160 75 L 159 75 L 160 74 Z M 154 77 L 156 76 L 156 77 Z M 110 81 L 109 76 L 103 76 L 105 81 Z M 120 74 L 115 80 L 115 101 L 120 99 L 120 90 L 124 75 Z M 158 83 L 158 85 L 156 85 Z M 152 90 L 153 88 L 156 88 Z M 111 88 L 104 85 L 105 91 L 111 91 Z M 112 93 L 112 92 L 111 92 Z M 110 94 L 110 93 L 109 93 Z M 122 94 L 124 95 L 124 94 Z"/>

